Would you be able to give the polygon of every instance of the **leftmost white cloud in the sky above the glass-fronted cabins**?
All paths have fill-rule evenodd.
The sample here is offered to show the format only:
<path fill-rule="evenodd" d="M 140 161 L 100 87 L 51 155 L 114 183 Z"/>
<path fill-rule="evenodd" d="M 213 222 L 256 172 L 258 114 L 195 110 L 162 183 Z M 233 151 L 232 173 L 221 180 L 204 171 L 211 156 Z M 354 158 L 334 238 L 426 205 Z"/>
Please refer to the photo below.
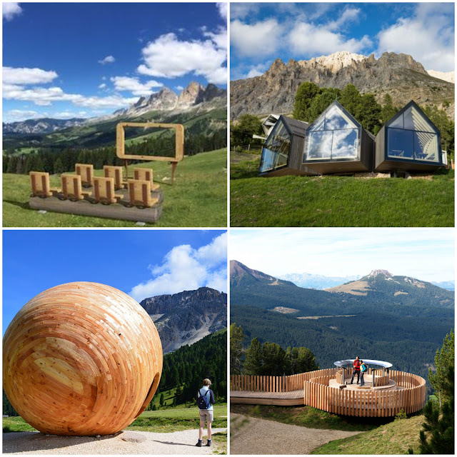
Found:
<path fill-rule="evenodd" d="M 282 29 L 276 19 L 255 24 L 243 24 L 236 19 L 230 24 L 231 44 L 241 56 L 268 56 L 278 49 Z"/>

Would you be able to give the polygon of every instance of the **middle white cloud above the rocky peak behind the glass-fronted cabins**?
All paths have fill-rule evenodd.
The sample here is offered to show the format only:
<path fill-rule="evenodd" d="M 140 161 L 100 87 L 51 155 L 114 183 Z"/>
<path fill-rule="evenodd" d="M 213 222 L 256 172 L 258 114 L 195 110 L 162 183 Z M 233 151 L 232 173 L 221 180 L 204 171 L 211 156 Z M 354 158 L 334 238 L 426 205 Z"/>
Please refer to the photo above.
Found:
<path fill-rule="evenodd" d="M 361 39 L 348 39 L 343 34 L 333 31 L 334 24 L 314 25 L 298 22 L 290 34 L 288 42 L 295 54 L 333 54 L 336 51 L 361 52 L 372 45 L 371 39 L 365 35 Z"/>

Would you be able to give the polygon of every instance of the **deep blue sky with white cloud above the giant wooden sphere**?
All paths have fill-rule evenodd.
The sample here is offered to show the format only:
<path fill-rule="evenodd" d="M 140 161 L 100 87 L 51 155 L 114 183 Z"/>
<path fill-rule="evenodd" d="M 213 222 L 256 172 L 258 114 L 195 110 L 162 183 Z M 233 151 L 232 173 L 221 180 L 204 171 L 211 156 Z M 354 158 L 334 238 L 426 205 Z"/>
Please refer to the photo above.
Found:
<path fill-rule="evenodd" d="M 226 231 L 4 230 L 3 332 L 37 293 L 74 281 L 136 301 L 201 286 L 226 292 Z"/>

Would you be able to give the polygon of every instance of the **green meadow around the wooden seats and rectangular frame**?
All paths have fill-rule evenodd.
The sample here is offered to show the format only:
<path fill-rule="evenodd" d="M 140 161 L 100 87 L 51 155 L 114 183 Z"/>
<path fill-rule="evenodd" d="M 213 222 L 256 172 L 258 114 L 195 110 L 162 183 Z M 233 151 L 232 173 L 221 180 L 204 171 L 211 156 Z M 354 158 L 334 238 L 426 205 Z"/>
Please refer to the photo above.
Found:
<path fill-rule="evenodd" d="M 221 227 L 227 223 L 226 150 L 219 149 L 186 157 L 176 168 L 175 184 L 164 189 L 162 217 L 158 227 Z M 133 167 L 152 167 L 154 180 L 171 176 L 166 163 L 144 163 Z M 95 171 L 102 176 L 102 170 Z M 130 171 L 129 174 L 133 174 Z M 51 176 L 51 186 L 60 186 L 60 176 Z M 4 227 L 132 227 L 133 221 L 116 221 L 71 214 L 39 214 L 29 209 L 30 179 L 19 174 L 3 175 Z M 148 224 L 152 225 L 152 224 Z"/>

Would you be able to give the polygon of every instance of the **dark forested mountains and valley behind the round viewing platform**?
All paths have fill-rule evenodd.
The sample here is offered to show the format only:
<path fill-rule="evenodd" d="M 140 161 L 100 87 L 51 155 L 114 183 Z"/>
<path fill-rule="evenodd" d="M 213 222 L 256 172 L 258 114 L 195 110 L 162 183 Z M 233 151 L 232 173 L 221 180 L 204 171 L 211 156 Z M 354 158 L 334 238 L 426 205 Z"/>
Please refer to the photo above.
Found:
<path fill-rule="evenodd" d="M 231 261 L 230 322 L 247 345 L 309 348 L 321 368 L 356 355 L 427 378 L 454 326 L 454 293 L 409 276 L 373 270 L 326 290 L 301 288 Z"/>

